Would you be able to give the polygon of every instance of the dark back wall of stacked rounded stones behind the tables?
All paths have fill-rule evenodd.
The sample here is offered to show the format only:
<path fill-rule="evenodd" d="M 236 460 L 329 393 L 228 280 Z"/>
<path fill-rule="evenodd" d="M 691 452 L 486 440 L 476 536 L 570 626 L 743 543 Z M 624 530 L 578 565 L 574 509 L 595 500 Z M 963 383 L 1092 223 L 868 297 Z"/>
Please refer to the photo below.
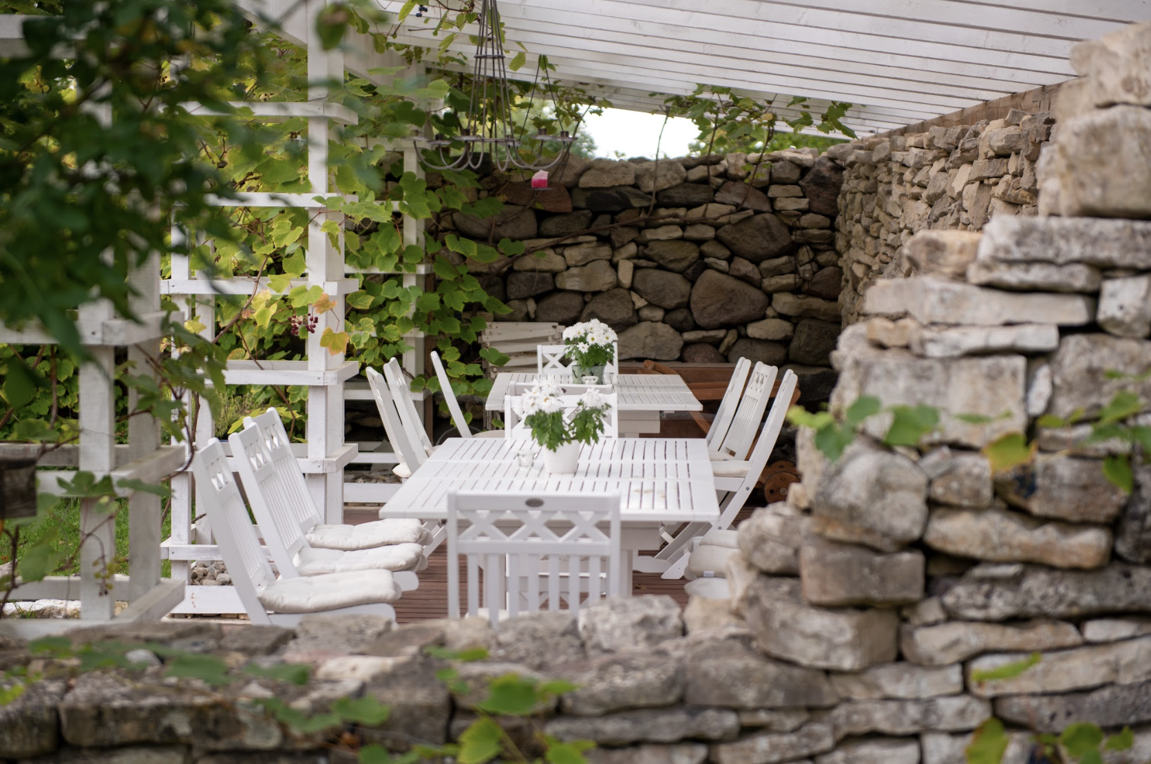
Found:
<path fill-rule="evenodd" d="M 483 178 L 482 193 L 506 209 L 443 222 L 535 251 L 500 273 L 471 263 L 512 308 L 497 320 L 597 318 L 619 333 L 623 359 L 746 357 L 803 370 L 828 366 L 840 328 L 840 178 L 815 150 L 658 163 L 573 156 L 550 191 Z"/>

